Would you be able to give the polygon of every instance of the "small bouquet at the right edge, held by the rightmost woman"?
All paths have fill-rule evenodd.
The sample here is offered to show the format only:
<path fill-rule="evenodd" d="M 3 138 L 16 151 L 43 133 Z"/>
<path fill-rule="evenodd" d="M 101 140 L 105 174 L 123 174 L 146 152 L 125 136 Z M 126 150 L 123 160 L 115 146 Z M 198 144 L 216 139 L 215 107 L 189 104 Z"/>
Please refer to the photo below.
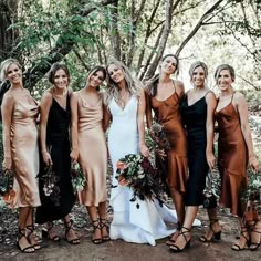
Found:
<path fill-rule="evenodd" d="M 246 201 L 261 202 L 261 173 L 255 173 L 251 168 L 247 170 L 248 186 L 242 191 L 242 199 Z"/>

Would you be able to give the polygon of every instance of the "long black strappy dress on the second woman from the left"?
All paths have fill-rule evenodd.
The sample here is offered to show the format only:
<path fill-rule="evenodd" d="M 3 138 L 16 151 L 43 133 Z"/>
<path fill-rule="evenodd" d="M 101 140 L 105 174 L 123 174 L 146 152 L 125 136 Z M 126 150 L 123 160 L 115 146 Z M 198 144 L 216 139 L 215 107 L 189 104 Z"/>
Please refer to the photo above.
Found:
<path fill-rule="evenodd" d="M 52 200 L 52 197 L 44 195 L 41 174 L 44 173 L 45 166 L 41 163 L 39 187 L 42 206 L 36 209 L 36 223 L 51 222 L 64 218 L 71 212 L 75 202 L 76 197 L 71 182 L 70 123 L 70 96 L 67 95 L 65 109 L 53 97 L 48 117 L 46 146 L 51 154 L 52 168 L 58 177 L 56 186 L 60 191 L 56 202 Z"/>

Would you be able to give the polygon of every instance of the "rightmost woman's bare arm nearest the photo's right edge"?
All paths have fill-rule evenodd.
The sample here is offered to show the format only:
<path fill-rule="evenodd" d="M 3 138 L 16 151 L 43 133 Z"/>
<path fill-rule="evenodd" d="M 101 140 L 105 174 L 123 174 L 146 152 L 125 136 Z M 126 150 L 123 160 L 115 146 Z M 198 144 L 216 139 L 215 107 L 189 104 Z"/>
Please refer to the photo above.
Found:
<path fill-rule="evenodd" d="M 253 152 L 252 135 L 251 135 L 251 129 L 249 127 L 249 122 L 248 122 L 248 104 L 246 102 L 244 96 L 238 92 L 234 94 L 234 103 L 239 112 L 241 130 L 242 130 L 243 138 L 248 147 L 249 165 L 250 167 L 252 167 L 254 170 L 258 171 L 259 163 Z"/>

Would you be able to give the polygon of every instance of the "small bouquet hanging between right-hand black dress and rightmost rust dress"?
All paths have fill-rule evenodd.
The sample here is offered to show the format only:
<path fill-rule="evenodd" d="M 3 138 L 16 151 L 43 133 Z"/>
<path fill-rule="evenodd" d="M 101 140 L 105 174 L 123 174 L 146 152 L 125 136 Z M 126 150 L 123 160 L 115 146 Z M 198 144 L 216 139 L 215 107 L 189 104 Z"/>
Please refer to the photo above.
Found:
<path fill-rule="evenodd" d="M 213 171 L 208 171 L 206 177 L 206 187 L 203 189 L 203 207 L 205 208 L 216 208 L 217 201 L 219 199 L 221 190 L 221 179 L 220 176 Z"/>

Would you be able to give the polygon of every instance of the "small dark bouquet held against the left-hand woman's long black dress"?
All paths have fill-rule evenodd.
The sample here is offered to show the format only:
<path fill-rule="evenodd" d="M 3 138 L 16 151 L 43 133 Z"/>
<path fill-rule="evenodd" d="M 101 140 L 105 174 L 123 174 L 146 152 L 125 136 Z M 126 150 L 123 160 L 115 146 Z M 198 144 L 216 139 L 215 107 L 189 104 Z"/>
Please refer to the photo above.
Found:
<path fill-rule="evenodd" d="M 41 175 L 43 181 L 43 192 L 46 197 L 53 201 L 55 206 L 60 206 L 60 188 L 58 186 L 59 177 L 53 171 L 52 165 L 44 168 L 44 173 Z"/>

